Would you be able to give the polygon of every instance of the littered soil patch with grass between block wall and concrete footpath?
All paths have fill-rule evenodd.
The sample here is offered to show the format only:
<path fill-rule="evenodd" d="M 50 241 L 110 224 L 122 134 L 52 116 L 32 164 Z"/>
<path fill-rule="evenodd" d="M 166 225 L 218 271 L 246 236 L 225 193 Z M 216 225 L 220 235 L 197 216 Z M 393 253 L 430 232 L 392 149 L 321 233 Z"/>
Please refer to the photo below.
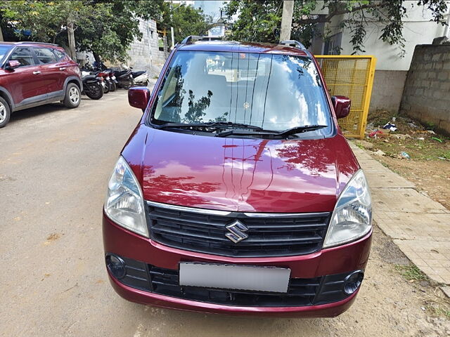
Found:
<path fill-rule="evenodd" d="M 387 123 L 395 124 L 398 130 L 368 136 Z M 409 117 L 378 111 L 369 114 L 366 138 L 356 143 L 450 209 L 450 138 L 435 133 L 432 128 Z"/>

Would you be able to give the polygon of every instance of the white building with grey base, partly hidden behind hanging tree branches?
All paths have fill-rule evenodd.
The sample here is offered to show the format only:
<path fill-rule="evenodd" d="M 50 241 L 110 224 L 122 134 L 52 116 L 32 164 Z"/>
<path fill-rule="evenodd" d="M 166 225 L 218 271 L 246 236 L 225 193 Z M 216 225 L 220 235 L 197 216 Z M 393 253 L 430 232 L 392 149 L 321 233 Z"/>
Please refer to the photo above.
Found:
<path fill-rule="evenodd" d="M 450 1 L 449 7 L 450 7 Z M 418 44 L 432 44 L 433 39 L 449 34 L 445 26 L 430 21 L 431 12 L 423 6 L 417 6 L 416 1 L 405 1 L 406 17 L 404 18 L 404 55 L 397 45 L 390 45 L 379 39 L 383 33 L 383 25 L 379 22 L 368 20 L 366 37 L 364 37 L 364 53 L 361 55 L 373 55 L 377 58 L 371 110 L 385 109 L 392 112 L 399 110 L 401 95 L 403 94 L 406 73 L 411 64 L 414 48 Z M 327 15 L 328 9 L 320 11 L 321 4 L 316 6 L 317 15 Z M 336 15 L 330 23 L 321 25 L 321 31 L 327 32 L 329 39 L 313 39 L 311 51 L 316 55 L 341 54 L 351 55 L 353 45 L 352 33 L 347 28 L 342 28 L 340 23 L 349 14 Z M 447 14 L 448 16 L 448 14 Z M 447 18 L 444 18 L 446 20 Z M 447 19 L 448 21 L 448 19 Z"/>

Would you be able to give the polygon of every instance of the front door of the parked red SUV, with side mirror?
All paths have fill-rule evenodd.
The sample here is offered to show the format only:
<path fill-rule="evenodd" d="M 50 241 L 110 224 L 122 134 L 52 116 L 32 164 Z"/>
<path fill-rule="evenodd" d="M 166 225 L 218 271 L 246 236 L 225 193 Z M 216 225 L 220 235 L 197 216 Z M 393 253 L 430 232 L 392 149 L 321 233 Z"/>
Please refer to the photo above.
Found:
<path fill-rule="evenodd" d="M 17 47 L 8 61 L 17 60 L 20 67 L 8 72 L 8 91 L 15 107 L 39 102 L 46 99 L 45 84 L 41 81 L 41 70 L 37 65 L 30 47 Z"/>

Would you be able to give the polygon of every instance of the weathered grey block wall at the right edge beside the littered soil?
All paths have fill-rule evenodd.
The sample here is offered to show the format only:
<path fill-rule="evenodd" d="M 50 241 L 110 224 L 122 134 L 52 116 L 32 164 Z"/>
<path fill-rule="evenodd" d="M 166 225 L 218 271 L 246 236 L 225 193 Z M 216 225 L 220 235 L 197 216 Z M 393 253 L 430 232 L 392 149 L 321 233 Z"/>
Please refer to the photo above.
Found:
<path fill-rule="evenodd" d="M 400 111 L 450 133 L 450 45 L 418 45 Z"/>

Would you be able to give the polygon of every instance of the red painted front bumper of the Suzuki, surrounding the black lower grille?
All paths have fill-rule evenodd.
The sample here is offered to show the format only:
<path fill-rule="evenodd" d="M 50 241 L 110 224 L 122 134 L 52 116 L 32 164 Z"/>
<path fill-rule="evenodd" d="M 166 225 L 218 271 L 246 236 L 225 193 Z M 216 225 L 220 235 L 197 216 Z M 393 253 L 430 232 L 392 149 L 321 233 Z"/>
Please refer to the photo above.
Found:
<path fill-rule="evenodd" d="M 142 265 L 157 267 L 169 272 L 178 272 L 180 262 L 205 262 L 205 263 L 229 263 L 243 265 L 264 265 L 274 267 L 288 267 L 291 270 L 291 281 L 293 279 L 319 279 L 323 286 L 326 279 L 336 275 L 346 275 L 354 270 L 364 270 L 371 247 L 371 233 L 351 244 L 323 249 L 319 252 L 304 256 L 274 257 L 274 258 L 229 258 L 224 256 L 212 256 L 203 253 L 183 251 L 153 242 L 137 234 L 129 232 L 115 225 L 109 218 L 103 215 L 103 243 L 105 253 L 114 253 L 127 258 L 130 261 L 141 261 Z M 157 305 L 165 308 L 178 310 L 191 310 L 197 312 L 224 313 L 233 315 L 256 315 L 256 316 L 284 316 L 284 317 L 334 317 L 340 315 L 352 305 L 356 290 L 350 296 L 330 296 L 327 300 L 323 293 L 321 300 L 311 300 L 310 303 L 301 305 L 283 305 L 283 302 L 271 306 L 265 303 L 259 305 L 241 305 L 235 302 L 229 305 L 223 303 L 211 303 L 214 300 L 203 300 L 201 297 L 188 298 L 184 293 L 155 293 L 152 292 L 152 282 L 146 289 L 143 286 L 129 286 L 124 279 L 118 280 L 108 270 L 110 282 L 117 293 L 123 298 L 136 303 Z M 325 276 L 328 275 L 328 276 Z M 334 275 L 334 276 L 333 276 Z M 333 281 L 333 279 L 331 279 Z M 330 283 L 330 282 L 328 282 Z M 131 284 L 132 285 L 132 284 Z M 139 288 L 139 289 L 137 289 Z M 178 287 L 179 289 L 179 287 Z M 224 292 L 224 291 L 222 291 Z M 336 293 L 336 291 L 334 291 Z M 171 296 L 170 296 L 171 295 Z M 186 298 L 187 296 L 187 298 Z M 183 298 L 184 297 L 184 298 Z M 314 296 L 313 296 L 314 298 Z M 329 302 L 329 303 L 328 303 Z M 230 302 L 231 303 L 231 302 Z M 238 303 L 238 305 L 236 305 Z M 259 303 L 259 302 L 255 302 Z M 286 302 L 286 303 L 292 303 Z"/>

